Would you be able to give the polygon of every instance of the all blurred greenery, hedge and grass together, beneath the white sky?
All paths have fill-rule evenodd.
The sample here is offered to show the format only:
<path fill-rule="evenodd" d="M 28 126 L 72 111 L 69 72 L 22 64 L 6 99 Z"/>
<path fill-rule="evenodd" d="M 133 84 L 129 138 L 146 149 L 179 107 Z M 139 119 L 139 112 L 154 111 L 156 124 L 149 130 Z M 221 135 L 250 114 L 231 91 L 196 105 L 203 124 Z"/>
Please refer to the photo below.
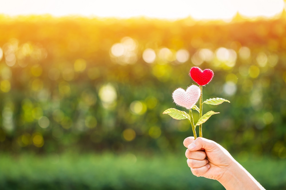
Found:
<path fill-rule="evenodd" d="M 286 188 L 285 24 L 1 15 L 0 188 L 224 189 L 188 168 L 190 123 L 162 114 L 184 110 L 192 66 L 215 73 L 203 99 L 231 102 L 204 105 L 221 113 L 203 136 Z"/>

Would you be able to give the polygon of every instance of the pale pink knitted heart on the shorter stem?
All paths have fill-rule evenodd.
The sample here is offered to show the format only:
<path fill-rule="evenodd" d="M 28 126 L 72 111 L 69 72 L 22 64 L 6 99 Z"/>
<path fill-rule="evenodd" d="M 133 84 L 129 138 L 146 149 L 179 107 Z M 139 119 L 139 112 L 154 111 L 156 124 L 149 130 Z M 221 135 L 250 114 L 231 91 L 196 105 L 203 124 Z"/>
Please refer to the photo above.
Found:
<path fill-rule="evenodd" d="M 200 98 L 200 88 L 196 85 L 189 86 L 186 91 L 178 88 L 173 92 L 172 97 L 176 104 L 190 110 Z"/>

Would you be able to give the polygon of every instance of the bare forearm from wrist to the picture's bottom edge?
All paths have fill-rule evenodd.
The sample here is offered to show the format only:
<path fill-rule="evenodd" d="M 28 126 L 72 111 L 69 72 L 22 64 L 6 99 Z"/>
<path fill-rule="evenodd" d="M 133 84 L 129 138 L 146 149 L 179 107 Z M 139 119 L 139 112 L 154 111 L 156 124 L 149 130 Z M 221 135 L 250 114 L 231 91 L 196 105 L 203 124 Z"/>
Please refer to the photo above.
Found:
<path fill-rule="evenodd" d="M 218 179 L 227 190 L 264 189 L 252 175 L 246 171 L 237 161 L 233 161 L 229 169 Z"/>

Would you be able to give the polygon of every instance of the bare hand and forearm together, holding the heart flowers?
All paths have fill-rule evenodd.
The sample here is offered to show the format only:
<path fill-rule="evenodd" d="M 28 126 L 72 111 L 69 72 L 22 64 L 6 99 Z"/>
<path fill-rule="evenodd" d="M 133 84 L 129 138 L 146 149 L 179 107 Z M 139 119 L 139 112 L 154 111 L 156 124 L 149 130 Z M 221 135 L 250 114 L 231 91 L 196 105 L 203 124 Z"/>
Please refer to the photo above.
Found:
<path fill-rule="evenodd" d="M 225 189 L 264 189 L 231 155 L 218 143 L 205 138 L 188 137 L 184 140 L 188 166 L 197 177 L 219 181 Z"/>

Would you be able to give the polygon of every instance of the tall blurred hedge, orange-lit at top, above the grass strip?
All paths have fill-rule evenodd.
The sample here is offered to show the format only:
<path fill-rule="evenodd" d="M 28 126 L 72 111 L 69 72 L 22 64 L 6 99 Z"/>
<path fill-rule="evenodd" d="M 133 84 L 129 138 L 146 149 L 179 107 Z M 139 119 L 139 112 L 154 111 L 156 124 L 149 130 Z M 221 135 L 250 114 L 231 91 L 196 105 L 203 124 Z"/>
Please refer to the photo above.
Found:
<path fill-rule="evenodd" d="M 203 99 L 231 102 L 204 105 L 221 113 L 203 136 L 242 157 L 286 158 L 284 14 L 231 23 L 0 20 L 1 151 L 181 153 L 190 124 L 162 112 L 178 108 L 172 92 L 194 83 L 188 72 L 198 65 L 215 73 Z"/>

